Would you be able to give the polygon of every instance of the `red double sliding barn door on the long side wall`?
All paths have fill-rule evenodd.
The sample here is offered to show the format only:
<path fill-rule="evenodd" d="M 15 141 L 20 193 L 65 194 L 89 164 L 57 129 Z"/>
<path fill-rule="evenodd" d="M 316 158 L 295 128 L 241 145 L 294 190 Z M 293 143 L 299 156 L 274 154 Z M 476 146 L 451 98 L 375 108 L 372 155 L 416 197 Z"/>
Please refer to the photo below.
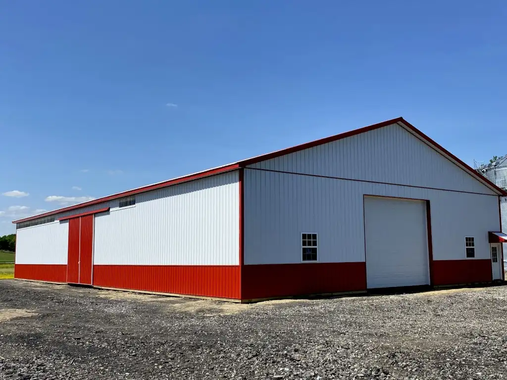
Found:
<path fill-rule="evenodd" d="M 93 218 L 85 215 L 69 219 L 67 282 L 92 284 Z"/>

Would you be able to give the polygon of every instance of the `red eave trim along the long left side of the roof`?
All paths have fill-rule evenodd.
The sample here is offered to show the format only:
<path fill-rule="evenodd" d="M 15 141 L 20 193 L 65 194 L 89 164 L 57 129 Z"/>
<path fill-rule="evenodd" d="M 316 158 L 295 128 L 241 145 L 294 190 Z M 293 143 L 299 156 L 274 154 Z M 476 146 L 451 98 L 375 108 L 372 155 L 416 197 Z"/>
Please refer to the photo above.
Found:
<path fill-rule="evenodd" d="M 178 183 L 193 181 L 195 179 L 209 177 L 209 176 L 214 175 L 214 174 L 225 173 L 225 172 L 228 172 L 228 171 L 231 171 L 231 170 L 235 170 L 235 169 L 238 169 L 238 168 L 239 168 L 239 164 L 231 164 L 231 165 L 222 166 L 222 167 L 216 168 L 216 169 L 206 170 L 206 171 L 203 171 L 203 172 L 200 172 L 200 173 L 196 173 L 196 174 L 189 174 L 189 175 L 186 175 L 184 177 L 179 177 L 179 178 L 170 179 L 168 181 L 164 181 L 164 182 L 160 182 L 160 183 L 155 183 L 153 185 L 139 187 L 139 188 L 136 188 L 136 189 L 133 189 L 133 190 L 129 190 L 129 191 L 126 191 L 126 192 L 123 192 L 123 193 L 118 193 L 118 194 L 111 195 L 111 196 L 108 196 L 108 197 L 94 199 L 93 201 L 89 201 L 89 202 L 85 202 L 85 203 L 80 203 L 78 205 L 69 206 L 69 207 L 61 208 L 61 209 L 54 210 L 54 211 L 49 211 L 49 212 L 46 212 L 44 214 L 34 215 L 34 216 L 30 216 L 28 218 L 14 220 L 13 223 L 21 223 L 21 222 L 24 222 L 24 221 L 33 220 L 33 219 L 39 219 L 39 218 L 43 218 L 45 216 L 55 215 L 55 214 L 59 214 L 59 213 L 66 212 L 66 211 L 77 210 L 77 209 L 80 209 L 80 208 L 83 208 L 83 207 L 96 205 L 98 203 L 112 201 L 112 200 L 118 199 L 118 198 L 128 197 L 129 195 L 134 195 L 134 194 L 139 194 L 139 193 L 146 193 L 146 192 L 155 190 L 157 188 L 162 188 L 162 187 L 172 186 L 172 185 L 175 185 L 175 184 L 178 184 Z"/>

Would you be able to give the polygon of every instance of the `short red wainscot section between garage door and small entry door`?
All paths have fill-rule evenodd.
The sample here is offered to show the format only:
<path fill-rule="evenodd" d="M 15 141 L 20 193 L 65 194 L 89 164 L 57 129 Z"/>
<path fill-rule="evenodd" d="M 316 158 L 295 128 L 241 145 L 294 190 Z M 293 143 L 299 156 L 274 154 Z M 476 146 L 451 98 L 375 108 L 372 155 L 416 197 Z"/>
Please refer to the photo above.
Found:
<path fill-rule="evenodd" d="M 457 285 L 493 280 L 490 259 L 433 260 L 433 285 Z"/>

